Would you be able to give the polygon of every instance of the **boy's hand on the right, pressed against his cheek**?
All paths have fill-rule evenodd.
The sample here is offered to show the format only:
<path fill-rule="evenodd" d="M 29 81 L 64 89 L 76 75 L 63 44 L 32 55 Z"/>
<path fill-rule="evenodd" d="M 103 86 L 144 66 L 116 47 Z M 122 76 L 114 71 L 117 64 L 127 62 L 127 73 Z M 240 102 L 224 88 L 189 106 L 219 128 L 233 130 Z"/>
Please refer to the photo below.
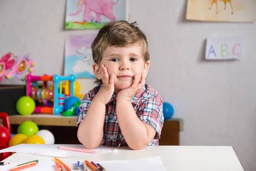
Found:
<path fill-rule="evenodd" d="M 128 100 L 131 102 L 131 99 L 134 97 L 134 95 L 140 91 L 143 86 L 145 85 L 145 76 L 142 73 L 141 77 L 138 76 L 138 74 L 134 75 L 134 81 L 129 88 L 125 88 L 118 92 L 116 95 L 116 100 Z"/>

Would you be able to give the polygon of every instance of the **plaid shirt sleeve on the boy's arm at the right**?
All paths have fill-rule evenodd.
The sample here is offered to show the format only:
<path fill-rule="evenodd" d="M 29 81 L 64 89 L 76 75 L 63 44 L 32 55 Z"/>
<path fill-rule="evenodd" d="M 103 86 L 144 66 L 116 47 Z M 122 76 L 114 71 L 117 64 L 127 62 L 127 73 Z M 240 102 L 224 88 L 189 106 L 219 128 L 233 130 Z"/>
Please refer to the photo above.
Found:
<path fill-rule="evenodd" d="M 154 139 L 160 139 L 160 134 L 163 128 L 163 100 L 159 94 L 155 94 L 153 97 L 145 100 L 139 111 L 140 120 L 143 123 L 147 123 L 154 130 L 156 134 Z"/>

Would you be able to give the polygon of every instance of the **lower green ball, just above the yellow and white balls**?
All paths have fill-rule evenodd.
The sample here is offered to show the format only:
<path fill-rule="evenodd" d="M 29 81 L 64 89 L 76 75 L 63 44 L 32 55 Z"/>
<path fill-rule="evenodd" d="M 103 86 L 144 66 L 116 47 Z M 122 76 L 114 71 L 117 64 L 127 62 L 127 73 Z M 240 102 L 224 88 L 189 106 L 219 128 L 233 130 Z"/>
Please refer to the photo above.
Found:
<path fill-rule="evenodd" d="M 38 132 L 38 125 L 32 121 L 25 121 L 21 123 L 17 128 L 17 134 L 24 134 L 27 137 L 35 135 Z"/>

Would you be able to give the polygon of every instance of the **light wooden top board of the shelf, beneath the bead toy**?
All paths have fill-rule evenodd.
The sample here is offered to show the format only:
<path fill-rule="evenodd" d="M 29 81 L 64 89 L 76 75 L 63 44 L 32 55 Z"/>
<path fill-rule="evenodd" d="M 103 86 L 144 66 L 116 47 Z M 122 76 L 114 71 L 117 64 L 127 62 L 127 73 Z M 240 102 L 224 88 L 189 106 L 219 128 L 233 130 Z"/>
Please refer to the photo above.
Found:
<path fill-rule="evenodd" d="M 54 114 L 9 115 L 10 124 L 18 125 L 30 120 L 37 125 L 76 126 L 77 116 L 65 117 Z"/>

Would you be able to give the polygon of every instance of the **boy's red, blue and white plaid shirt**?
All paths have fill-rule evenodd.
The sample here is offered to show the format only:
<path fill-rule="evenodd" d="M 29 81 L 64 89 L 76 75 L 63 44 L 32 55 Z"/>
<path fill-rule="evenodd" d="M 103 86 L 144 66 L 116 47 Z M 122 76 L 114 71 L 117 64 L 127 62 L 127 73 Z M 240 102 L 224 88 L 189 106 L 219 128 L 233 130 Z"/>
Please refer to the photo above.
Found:
<path fill-rule="evenodd" d="M 80 114 L 78 115 L 76 125 L 83 121 L 88 111 L 90 103 L 100 90 L 102 85 L 98 85 L 84 95 L 81 101 Z M 160 95 L 145 84 L 144 88 L 137 92 L 131 100 L 134 111 L 143 123 L 147 123 L 156 130 L 154 139 L 148 145 L 158 145 L 161 130 L 163 128 L 163 100 Z M 120 130 L 116 117 L 116 94 L 113 93 L 110 101 L 106 104 L 105 122 L 103 127 L 103 138 L 100 145 L 118 146 L 127 145 L 125 138 Z"/>

